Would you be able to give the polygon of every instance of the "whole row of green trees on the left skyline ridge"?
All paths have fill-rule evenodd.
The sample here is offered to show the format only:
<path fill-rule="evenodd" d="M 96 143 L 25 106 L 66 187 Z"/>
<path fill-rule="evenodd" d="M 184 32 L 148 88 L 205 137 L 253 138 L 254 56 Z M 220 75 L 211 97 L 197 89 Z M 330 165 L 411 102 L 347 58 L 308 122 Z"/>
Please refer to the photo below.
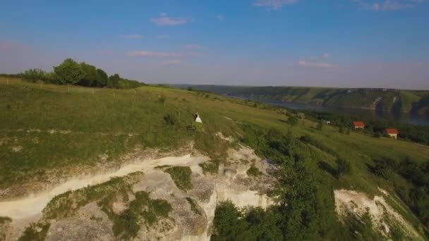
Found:
<path fill-rule="evenodd" d="M 72 58 L 66 58 L 59 66 L 54 66 L 53 72 L 34 68 L 8 77 L 20 77 L 29 82 L 42 81 L 55 85 L 80 85 L 115 89 L 131 89 L 145 85 L 137 80 L 121 78 L 117 73 L 109 76 L 100 68 L 85 62 L 78 63 Z"/>

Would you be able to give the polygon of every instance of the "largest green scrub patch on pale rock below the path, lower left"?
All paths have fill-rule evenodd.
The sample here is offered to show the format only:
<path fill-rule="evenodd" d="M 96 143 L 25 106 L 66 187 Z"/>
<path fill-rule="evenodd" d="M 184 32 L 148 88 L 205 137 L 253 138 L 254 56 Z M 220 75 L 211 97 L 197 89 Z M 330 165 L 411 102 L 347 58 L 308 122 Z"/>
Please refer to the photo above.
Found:
<path fill-rule="evenodd" d="M 172 208 L 162 199 L 151 199 L 149 192 L 133 192 L 131 185 L 135 183 L 135 176 L 140 173 L 132 173 L 123 178 L 112 178 L 107 183 L 85 187 L 81 190 L 66 192 L 54 197 L 43 210 L 44 220 L 67 218 L 75 214 L 81 206 L 90 202 L 97 205 L 107 214 L 113 222 L 113 233 L 121 240 L 129 240 L 136 237 L 142 224 L 154 225 L 161 218 L 168 218 Z M 129 199 L 129 196 L 134 198 Z M 114 202 L 123 202 L 127 209 L 116 214 L 112 205 Z M 49 227 L 49 226 L 48 226 Z M 33 237 L 34 228 L 28 229 L 29 237 Z"/>

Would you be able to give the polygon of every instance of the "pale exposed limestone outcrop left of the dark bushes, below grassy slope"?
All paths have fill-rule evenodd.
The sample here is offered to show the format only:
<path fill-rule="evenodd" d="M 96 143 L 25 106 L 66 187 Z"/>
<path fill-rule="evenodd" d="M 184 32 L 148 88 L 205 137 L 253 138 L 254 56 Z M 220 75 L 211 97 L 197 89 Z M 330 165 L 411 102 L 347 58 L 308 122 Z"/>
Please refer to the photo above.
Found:
<path fill-rule="evenodd" d="M 116 169 L 113 172 L 114 175 L 100 174 L 92 176 L 90 180 L 71 180 L 72 183 L 63 184 L 75 190 L 85 187 L 87 183 L 94 185 L 109 180 L 111 176 L 125 177 L 129 173 L 140 171 L 141 173 L 133 174 L 133 183 L 130 183 L 131 189 L 127 193 L 114 193 L 114 199 L 109 204 L 113 214 L 103 209 L 99 204 L 100 201 L 92 201 L 83 206 L 79 206 L 79 202 L 75 204 L 71 202 L 69 207 L 73 208 L 73 212 L 68 215 L 52 219 L 44 214 L 40 218 L 40 211 L 42 211 L 40 209 L 39 217 L 33 218 L 31 222 L 50 224 L 46 240 L 117 240 L 111 215 L 120 215 L 129 209 L 131 202 L 135 199 L 135 193 L 147 192 L 150 193 L 150 199 L 167 201 L 171 205 L 171 211 L 167 218 L 159 218 L 155 223 L 138 221 L 139 229 L 134 240 L 210 240 L 214 211 L 219 202 L 231 200 L 240 207 L 250 205 L 262 208 L 272 204 L 267 197 L 267 192 L 274 183 L 274 178 L 269 174 L 274 167 L 269 161 L 261 160 L 248 147 L 230 149 L 227 159 L 221 161 L 216 174 L 203 173 L 199 164 L 210 159 L 195 152 L 192 155 L 169 156 L 162 159 L 139 159 L 134 154 L 130 156 L 137 160 L 130 161 L 119 170 Z M 179 189 L 171 176 L 164 172 L 162 166 L 191 168 L 192 188 L 187 191 Z M 250 166 L 258 168 L 260 175 L 248 175 Z M 76 185 L 73 186 L 74 184 Z M 68 198 L 79 200 L 78 195 L 80 195 L 78 192 L 76 194 L 72 192 Z M 38 197 L 35 195 L 28 200 L 31 202 L 39 200 L 37 204 L 42 207 L 49 202 L 49 199 L 38 199 Z M 26 199 L 16 202 L 25 204 Z M 13 202 L 0 202 L 0 209 L 2 206 L 13 205 Z M 4 235 L 0 237 L 5 237 L 6 240 L 16 240 L 20 237 L 30 222 L 25 223 L 23 220 L 30 214 L 34 215 L 35 211 L 31 210 L 28 214 L 24 209 L 9 212 L 8 216 L 15 219 L 7 226 L 0 227 L 0 234 Z M 0 216 L 2 216 L 1 211 Z"/>

